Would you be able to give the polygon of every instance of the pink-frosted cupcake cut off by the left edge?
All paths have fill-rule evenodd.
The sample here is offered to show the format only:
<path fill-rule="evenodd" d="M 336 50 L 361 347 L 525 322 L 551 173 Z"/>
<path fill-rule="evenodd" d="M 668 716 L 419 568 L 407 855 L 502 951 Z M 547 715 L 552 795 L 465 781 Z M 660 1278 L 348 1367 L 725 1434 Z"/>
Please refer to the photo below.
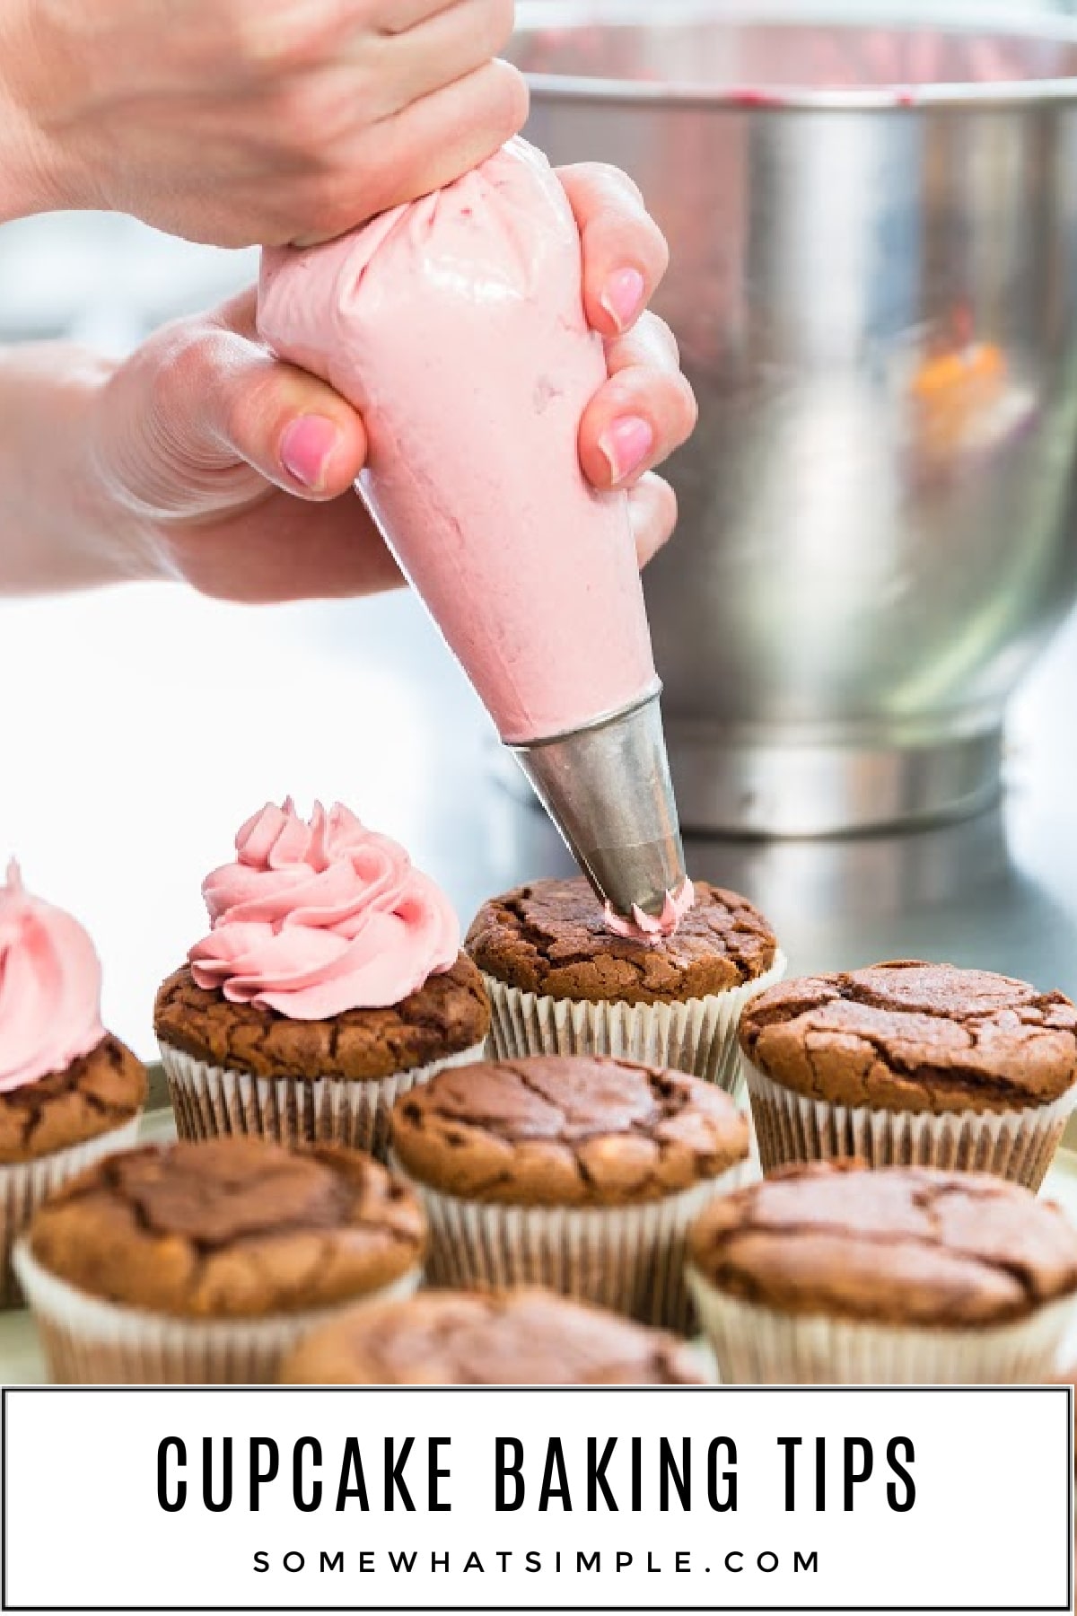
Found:
<path fill-rule="evenodd" d="M 71 915 L 0 886 L 0 1306 L 18 1306 L 11 1246 L 66 1178 L 134 1143 L 145 1068 L 100 1018 L 94 944 Z"/>

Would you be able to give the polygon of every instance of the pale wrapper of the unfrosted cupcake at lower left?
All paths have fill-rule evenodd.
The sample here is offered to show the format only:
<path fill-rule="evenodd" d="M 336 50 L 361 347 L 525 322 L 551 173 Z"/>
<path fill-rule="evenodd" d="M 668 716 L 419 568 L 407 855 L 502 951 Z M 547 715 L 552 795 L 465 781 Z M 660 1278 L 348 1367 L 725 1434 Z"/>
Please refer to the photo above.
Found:
<path fill-rule="evenodd" d="M 58 1280 L 37 1262 L 26 1239 L 15 1248 L 15 1269 L 48 1375 L 63 1385 L 268 1385 L 295 1341 L 341 1311 L 207 1322 L 139 1312 Z M 341 1307 L 410 1296 L 420 1277 L 415 1267 Z"/>

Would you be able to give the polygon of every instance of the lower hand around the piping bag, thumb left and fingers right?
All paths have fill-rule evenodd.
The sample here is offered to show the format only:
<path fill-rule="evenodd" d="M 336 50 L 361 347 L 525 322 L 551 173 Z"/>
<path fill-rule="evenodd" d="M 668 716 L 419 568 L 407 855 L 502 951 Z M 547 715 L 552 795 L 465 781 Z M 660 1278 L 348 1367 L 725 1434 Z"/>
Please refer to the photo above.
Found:
<path fill-rule="evenodd" d="M 677 504 L 652 473 L 689 435 L 677 344 L 646 302 L 667 249 L 615 170 L 562 170 L 580 223 L 585 302 L 607 339 L 610 380 L 581 422 L 599 488 L 628 490 L 641 564 Z M 367 436 L 326 383 L 283 365 L 255 335 L 255 294 L 158 331 L 102 389 L 92 483 L 134 575 L 184 579 L 241 601 L 365 595 L 400 582 L 352 493 Z M 299 496 L 299 498 L 297 498 Z M 100 525 L 100 524 L 98 524 Z"/>

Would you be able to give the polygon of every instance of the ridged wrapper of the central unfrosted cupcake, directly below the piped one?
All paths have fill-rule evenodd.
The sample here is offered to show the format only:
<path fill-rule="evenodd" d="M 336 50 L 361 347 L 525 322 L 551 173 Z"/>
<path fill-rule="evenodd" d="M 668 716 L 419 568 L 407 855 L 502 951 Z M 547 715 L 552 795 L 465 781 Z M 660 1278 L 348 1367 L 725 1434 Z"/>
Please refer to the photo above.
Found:
<path fill-rule="evenodd" d="M 405 1172 L 397 1160 L 392 1167 Z M 544 1285 L 686 1335 L 688 1227 L 741 1178 L 738 1164 L 691 1189 L 631 1207 L 492 1206 L 412 1180 L 430 1228 L 426 1283 L 452 1290 Z"/>

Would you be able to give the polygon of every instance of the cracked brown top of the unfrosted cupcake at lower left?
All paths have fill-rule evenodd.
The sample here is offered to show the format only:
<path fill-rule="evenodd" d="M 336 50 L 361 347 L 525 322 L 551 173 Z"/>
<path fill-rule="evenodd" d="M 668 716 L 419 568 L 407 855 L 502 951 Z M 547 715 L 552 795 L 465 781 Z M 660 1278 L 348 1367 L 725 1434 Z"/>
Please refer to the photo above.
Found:
<path fill-rule="evenodd" d="M 402 1278 L 423 1214 L 384 1167 L 342 1146 L 254 1138 L 110 1155 L 37 1210 L 31 1249 L 107 1301 L 187 1319 L 328 1307 Z"/>

